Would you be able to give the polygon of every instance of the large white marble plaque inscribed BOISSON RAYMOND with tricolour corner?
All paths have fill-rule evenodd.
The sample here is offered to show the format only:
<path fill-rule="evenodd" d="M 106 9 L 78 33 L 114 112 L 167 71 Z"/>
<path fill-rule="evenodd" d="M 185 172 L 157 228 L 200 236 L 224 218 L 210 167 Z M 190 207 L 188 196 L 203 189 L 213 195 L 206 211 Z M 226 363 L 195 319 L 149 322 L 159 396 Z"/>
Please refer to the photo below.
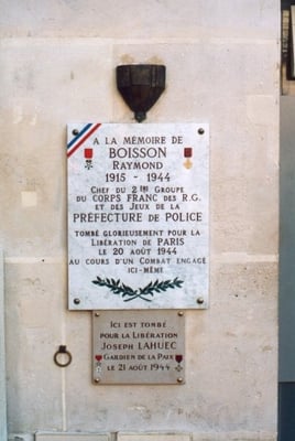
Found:
<path fill-rule="evenodd" d="M 69 309 L 208 306 L 207 123 L 68 126 Z"/>

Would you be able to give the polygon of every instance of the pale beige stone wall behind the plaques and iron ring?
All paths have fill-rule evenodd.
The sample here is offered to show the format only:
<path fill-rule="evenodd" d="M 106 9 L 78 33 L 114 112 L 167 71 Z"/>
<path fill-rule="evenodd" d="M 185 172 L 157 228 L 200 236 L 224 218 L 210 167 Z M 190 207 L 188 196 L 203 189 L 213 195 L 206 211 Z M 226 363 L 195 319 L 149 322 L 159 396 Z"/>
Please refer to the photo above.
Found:
<path fill-rule="evenodd" d="M 0 6 L 9 432 L 275 439 L 278 1 Z M 210 123 L 210 309 L 187 313 L 181 387 L 92 386 L 90 314 L 66 310 L 65 126 L 132 121 L 114 87 L 130 62 L 167 67 L 148 122 Z"/>

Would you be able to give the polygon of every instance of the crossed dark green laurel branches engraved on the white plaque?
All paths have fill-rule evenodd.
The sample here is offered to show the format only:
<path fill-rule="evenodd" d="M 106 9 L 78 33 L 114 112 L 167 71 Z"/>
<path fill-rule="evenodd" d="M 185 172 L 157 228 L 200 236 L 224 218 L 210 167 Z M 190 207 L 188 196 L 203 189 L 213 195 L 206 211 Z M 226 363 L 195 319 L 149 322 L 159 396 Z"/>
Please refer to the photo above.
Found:
<path fill-rule="evenodd" d="M 132 288 L 128 287 L 127 284 L 122 283 L 121 280 L 108 279 L 105 280 L 97 276 L 96 280 L 92 280 L 92 283 L 97 284 L 98 287 L 107 287 L 113 294 L 122 295 L 124 302 L 130 302 L 134 299 L 142 299 L 146 302 L 151 302 L 152 299 L 148 297 L 153 297 L 155 292 L 167 291 L 167 289 L 181 288 L 184 283 L 183 280 L 179 280 L 177 277 L 174 280 L 164 280 L 155 282 L 150 282 L 144 288 L 139 288 L 133 290 Z"/>

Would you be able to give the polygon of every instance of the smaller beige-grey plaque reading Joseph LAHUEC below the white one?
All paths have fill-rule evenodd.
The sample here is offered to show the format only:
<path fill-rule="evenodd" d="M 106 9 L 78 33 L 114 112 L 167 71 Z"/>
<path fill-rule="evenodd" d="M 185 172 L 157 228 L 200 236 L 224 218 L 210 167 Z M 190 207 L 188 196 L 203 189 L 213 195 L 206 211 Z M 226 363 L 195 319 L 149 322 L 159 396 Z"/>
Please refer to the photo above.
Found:
<path fill-rule="evenodd" d="M 94 311 L 97 385 L 185 383 L 183 311 Z"/>

